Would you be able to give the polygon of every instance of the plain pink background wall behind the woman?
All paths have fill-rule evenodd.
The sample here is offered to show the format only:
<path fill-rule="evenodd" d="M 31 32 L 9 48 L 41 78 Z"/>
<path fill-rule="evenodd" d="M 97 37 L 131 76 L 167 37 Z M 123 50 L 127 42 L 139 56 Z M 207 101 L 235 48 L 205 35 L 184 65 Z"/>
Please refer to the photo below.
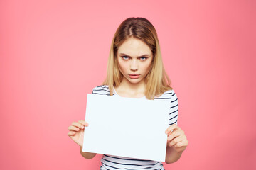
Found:
<path fill-rule="evenodd" d="M 68 137 L 115 30 L 148 18 L 189 145 L 166 169 L 255 169 L 256 3 L 0 1 L 0 169 L 99 169 Z M 102 140 L 104 142 L 104 140 Z M 125 147 L 125 146 L 124 146 Z"/>

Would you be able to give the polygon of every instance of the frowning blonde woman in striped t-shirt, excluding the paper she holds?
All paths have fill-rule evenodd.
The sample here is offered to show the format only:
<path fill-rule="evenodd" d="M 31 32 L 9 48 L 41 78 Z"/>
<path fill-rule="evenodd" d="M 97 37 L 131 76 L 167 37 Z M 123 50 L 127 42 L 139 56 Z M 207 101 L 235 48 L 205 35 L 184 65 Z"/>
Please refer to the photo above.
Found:
<path fill-rule="evenodd" d="M 146 18 L 127 18 L 117 28 L 107 64 L 107 77 L 102 85 L 92 90 L 95 95 L 169 100 L 169 128 L 166 129 L 167 164 L 176 162 L 188 145 L 183 130 L 177 125 L 178 98 L 165 72 L 159 40 L 154 26 Z M 86 159 L 95 153 L 82 152 L 83 132 L 89 124 L 85 120 L 73 122 L 68 136 L 80 145 Z M 100 169 L 164 169 L 157 161 L 116 157 L 103 154 Z"/>

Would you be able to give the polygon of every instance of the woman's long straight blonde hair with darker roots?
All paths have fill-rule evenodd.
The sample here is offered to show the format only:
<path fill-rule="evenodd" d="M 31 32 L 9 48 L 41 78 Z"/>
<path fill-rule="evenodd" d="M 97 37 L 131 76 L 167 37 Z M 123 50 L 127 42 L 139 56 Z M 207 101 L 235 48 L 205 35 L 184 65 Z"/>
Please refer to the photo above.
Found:
<path fill-rule="evenodd" d="M 145 77 L 147 99 L 161 96 L 165 91 L 171 90 L 171 81 L 166 74 L 162 62 L 159 40 L 154 26 L 146 18 L 127 18 L 114 33 L 110 47 L 110 56 L 107 63 L 107 77 L 102 85 L 109 86 L 110 96 L 113 95 L 113 86 L 119 86 L 122 73 L 117 62 L 117 50 L 128 38 L 137 38 L 149 45 L 153 54 L 151 69 Z"/>

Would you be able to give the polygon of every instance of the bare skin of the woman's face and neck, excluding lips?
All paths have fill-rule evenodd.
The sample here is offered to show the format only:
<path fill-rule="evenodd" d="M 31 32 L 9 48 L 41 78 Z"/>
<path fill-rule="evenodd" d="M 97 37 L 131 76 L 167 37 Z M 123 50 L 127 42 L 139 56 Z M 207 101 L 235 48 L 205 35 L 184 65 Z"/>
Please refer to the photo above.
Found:
<path fill-rule="evenodd" d="M 142 57 L 143 55 L 147 55 Z M 117 50 L 117 62 L 123 75 L 121 84 L 115 87 L 122 97 L 140 98 L 145 94 L 144 77 L 148 74 L 153 60 L 148 45 L 136 38 L 129 38 Z M 131 79 L 129 74 L 139 74 L 139 79 Z"/>

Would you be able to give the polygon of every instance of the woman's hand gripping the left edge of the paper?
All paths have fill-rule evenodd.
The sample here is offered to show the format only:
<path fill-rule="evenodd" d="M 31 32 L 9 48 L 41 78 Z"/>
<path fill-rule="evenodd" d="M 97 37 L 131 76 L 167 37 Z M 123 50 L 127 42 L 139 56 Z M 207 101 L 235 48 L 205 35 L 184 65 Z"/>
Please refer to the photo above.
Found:
<path fill-rule="evenodd" d="M 84 128 L 89 124 L 85 120 L 78 120 L 78 122 L 73 122 L 72 125 L 68 127 L 68 136 L 75 141 L 80 147 L 83 144 L 84 138 Z"/>

